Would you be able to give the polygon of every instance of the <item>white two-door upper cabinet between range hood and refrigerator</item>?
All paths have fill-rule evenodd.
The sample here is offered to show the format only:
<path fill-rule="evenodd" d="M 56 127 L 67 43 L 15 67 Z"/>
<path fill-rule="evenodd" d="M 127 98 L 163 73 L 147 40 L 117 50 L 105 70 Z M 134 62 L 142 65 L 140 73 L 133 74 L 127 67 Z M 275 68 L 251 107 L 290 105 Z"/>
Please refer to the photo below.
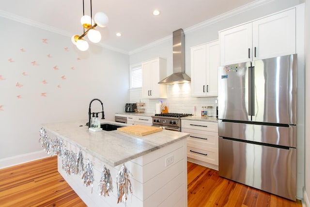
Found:
<path fill-rule="evenodd" d="M 192 96 L 217 96 L 218 41 L 190 48 Z"/>

